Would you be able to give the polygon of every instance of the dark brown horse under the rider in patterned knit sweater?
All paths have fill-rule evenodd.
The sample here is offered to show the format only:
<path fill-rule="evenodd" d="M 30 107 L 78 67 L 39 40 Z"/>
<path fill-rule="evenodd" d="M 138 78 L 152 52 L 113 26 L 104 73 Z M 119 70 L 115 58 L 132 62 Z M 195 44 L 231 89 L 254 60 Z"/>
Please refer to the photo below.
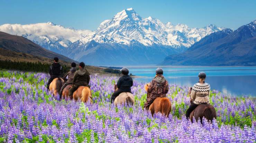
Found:
<path fill-rule="evenodd" d="M 217 114 L 215 108 L 211 104 L 200 104 L 190 113 L 189 119 L 191 122 L 193 122 L 193 117 L 196 122 L 198 121 L 198 118 L 200 118 L 202 123 L 203 117 L 205 117 L 207 121 L 212 122 L 213 118 L 217 119 Z"/>

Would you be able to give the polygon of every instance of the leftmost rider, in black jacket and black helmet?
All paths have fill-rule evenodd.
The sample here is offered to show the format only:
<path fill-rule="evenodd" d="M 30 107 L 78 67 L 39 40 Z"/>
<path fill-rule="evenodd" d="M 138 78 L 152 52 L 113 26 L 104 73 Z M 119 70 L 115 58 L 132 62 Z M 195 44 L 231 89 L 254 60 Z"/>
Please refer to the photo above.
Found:
<path fill-rule="evenodd" d="M 49 90 L 49 86 L 50 86 L 51 82 L 53 81 L 53 79 L 61 77 L 62 73 L 63 73 L 62 66 L 60 63 L 58 63 L 59 58 L 54 57 L 53 60 L 54 60 L 54 63 L 49 67 L 49 71 L 48 71 L 51 76 L 47 83 L 48 90 Z"/>

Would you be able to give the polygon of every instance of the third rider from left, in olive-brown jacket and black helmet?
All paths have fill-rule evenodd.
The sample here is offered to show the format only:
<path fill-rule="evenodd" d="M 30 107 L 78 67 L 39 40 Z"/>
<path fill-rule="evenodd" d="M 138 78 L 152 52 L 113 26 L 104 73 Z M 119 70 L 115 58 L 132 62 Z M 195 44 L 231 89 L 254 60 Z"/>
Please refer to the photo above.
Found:
<path fill-rule="evenodd" d="M 85 64 L 81 62 L 79 64 L 79 70 L 77 70 L 74 74 L 72 84 L 73 86 L 68 91 L 68 96 L 73 96 L 73 92 L 79 88 L 80 86 L 89 86 L 90 82 L 90 73 L 85 69 Z"/>

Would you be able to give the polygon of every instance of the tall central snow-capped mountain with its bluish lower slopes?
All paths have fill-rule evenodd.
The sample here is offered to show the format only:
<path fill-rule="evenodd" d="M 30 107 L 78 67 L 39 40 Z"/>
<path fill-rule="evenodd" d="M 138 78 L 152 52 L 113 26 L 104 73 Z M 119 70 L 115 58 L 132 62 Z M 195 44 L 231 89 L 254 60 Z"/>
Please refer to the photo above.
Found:
<path fill-rule="evenodd" d="M 222 29 L 212 24 L 189 28 L 152 17 L 143 19 L 130 8 L 103 21 L 89 39 L 72 43 L 67 55 L 92 65 L 158 64 L 165 56 L 180 53 Z"/>

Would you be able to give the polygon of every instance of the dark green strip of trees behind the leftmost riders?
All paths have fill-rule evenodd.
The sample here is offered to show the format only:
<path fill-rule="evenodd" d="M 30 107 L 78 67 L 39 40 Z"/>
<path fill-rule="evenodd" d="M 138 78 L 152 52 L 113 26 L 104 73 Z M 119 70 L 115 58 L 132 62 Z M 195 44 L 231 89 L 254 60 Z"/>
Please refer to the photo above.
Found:
<path fill-rule="evenodd" d="M 41 62 L 12 62 L 12 61 L 0 61 L 0 69 L 7 70 L 21 70 L 26 72 L 44 72 L 48 73 L 51 64 L 41 63 Z M 62 65 L 63 73 L 70 70 L 70 66 Z"/>

